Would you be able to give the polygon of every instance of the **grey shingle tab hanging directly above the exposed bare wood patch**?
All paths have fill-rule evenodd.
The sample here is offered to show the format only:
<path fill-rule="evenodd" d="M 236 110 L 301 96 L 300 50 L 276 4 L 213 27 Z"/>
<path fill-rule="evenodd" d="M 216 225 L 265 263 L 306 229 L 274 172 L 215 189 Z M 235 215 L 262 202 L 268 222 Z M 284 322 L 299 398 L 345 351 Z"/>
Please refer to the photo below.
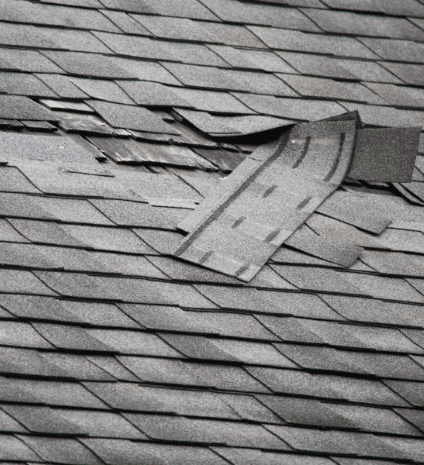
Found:
<path fill-rule="evenodd" d="M 96 100 L 89 104 L 113 127 L 175 134 L 172 126 L 146 108 Z"/>

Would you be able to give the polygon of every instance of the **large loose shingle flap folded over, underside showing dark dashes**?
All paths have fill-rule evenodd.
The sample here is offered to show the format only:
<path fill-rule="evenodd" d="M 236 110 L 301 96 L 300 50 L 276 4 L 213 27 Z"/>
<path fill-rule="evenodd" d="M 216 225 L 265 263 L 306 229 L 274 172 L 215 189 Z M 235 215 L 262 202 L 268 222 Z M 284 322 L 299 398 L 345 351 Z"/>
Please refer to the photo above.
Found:
<path fill-rule="evenodd" d="M 340 185 L 356 121 L 298 124 L 259 147 L 179 228 L 177 257 L 250 281 Z"/>

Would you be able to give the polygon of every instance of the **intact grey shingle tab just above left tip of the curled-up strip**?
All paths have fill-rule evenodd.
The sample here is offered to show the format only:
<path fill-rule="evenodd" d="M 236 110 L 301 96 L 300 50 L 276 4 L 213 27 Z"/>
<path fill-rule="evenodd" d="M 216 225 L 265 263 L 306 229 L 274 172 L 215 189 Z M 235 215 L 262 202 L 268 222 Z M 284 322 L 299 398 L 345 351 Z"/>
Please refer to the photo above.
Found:
<path fill-rule="evenodd" d="M 148 81 L 118 81 L 122 89 L 138 104 L 159 107 L 189 106 L 172 88 Z M 177 89 L 178 90 L 178 89 Z"/>

